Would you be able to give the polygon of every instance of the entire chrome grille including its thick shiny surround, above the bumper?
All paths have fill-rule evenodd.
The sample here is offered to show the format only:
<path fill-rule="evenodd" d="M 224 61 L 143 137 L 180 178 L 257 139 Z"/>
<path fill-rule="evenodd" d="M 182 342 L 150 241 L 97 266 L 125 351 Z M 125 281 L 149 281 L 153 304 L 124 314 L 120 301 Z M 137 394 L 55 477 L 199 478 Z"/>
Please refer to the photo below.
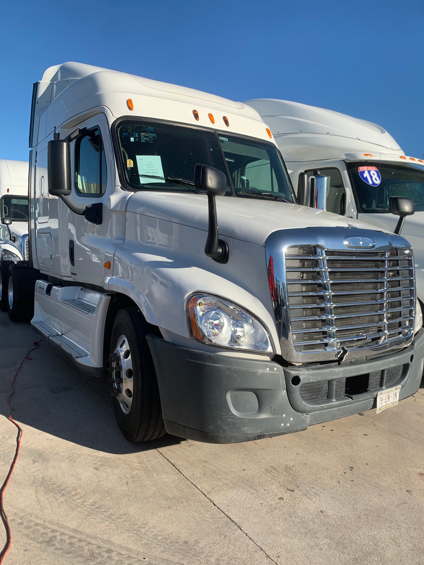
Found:
<path fill-rule="evenodd" d="M 368 238 L 373 248 L 349 249 L 344 241 L 352 235 Z M 285 359 L 378 357 L 412 342 L 413 257 L 400 236 L 293 229 L 271 234 L 266 251 Z"/>

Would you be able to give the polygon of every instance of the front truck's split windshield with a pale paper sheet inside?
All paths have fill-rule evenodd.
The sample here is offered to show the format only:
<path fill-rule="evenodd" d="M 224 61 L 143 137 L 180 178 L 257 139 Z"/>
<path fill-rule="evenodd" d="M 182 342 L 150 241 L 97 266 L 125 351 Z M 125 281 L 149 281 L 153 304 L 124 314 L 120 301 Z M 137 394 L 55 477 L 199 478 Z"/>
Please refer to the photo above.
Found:
<path fill-rule="evenodd" d="M 226 195 L 295 202 L 275 145 L 183 125 L 123 121 L 116 128 L 127 184 L 132 189 L 197 192 L 197 163 L 227 176 Z"/>

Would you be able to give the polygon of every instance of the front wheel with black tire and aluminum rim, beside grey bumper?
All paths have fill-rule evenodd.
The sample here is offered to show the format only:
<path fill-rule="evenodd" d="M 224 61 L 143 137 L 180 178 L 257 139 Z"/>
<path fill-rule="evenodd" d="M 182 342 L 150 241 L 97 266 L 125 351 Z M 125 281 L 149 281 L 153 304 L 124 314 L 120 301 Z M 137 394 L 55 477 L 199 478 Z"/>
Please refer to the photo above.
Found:
<path fill-rule="evenodd" d="M 120 431 L 132 442 L 163 436 L 165 426 L 156 373 L 137 308 L 123 308 L 116 314 L 110 355 L 111 393 Z"/>

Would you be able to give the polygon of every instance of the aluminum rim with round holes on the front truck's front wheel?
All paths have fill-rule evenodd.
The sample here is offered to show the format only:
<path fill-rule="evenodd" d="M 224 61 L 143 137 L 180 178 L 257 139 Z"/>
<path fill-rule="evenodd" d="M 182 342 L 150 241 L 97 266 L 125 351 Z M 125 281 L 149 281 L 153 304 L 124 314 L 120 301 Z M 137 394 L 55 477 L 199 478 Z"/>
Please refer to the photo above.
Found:
<path fill-rule="evenodd" d="M 112 380 L 116 392 L 116 400 L 124 414 L 129 414 L 133 396 L 133 370 L 131 350 L 126 336 L 122 334 L 116 340 L 115 360 L 112 363 Z M 116 368 L 115 368 L 116 367 Z"/>

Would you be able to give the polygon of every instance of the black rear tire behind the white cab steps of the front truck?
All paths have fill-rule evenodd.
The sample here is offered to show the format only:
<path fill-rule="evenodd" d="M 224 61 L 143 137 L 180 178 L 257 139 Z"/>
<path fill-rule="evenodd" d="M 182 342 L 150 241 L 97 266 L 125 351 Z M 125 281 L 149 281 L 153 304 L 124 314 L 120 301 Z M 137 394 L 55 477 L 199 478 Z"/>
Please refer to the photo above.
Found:
<path fill-rule="evenodd" d="M 6 306 L 11 321 L 28 321 L 34 315 L 34 287 L 40 273 L 12 263 L 7 270 Z"/>

